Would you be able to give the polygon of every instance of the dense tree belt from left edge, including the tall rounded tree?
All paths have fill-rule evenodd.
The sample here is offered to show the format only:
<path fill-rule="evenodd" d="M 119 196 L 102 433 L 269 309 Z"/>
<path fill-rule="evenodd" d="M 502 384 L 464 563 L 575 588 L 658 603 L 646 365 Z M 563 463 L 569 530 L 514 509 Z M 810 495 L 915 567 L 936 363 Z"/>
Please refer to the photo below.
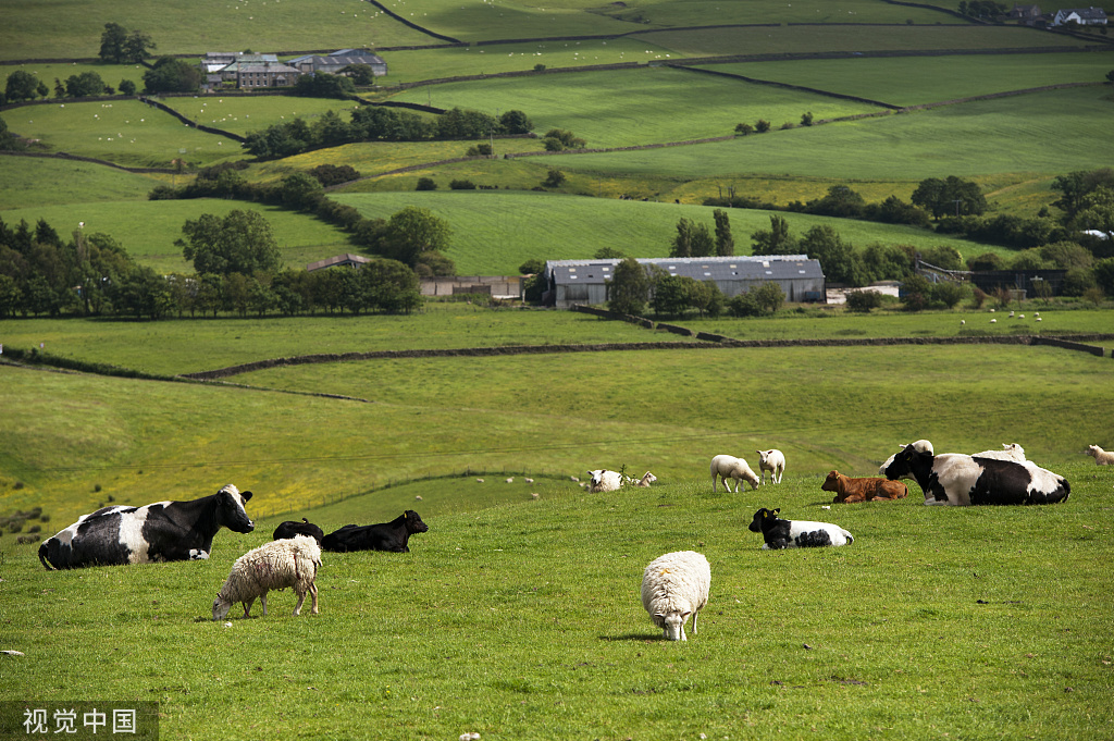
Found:
<path fill-rule="evenodd" d="M 260 220 L 233 211 L 187 221 L 183 244 L 192 247 L 195 269 L 205 269 L 188 275 L 137 265 L 107 234 L 79 227 L 63 240 L 43 220 L 33 230 L 26 221 L 9 227 L 0 220 L 0 318 L 409 313 L 421 305 L 418 275 L 393 260 L 312 273 L 280 267 L 266 257 L 274 242 Z M 262 252 L 246 257 L 260 238 Z"/>

